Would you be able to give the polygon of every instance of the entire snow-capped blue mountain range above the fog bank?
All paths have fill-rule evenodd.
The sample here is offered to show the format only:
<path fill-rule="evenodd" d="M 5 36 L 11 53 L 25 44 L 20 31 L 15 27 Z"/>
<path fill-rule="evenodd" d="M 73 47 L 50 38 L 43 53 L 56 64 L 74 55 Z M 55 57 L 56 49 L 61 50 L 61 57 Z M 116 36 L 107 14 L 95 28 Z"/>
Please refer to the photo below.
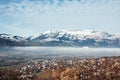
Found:
<path fill-rule="evenodd" d="M 37 36 L 0 34 L 0 46 L 120 47 L 120 35 L 94 30 L 48 30 Z"/>

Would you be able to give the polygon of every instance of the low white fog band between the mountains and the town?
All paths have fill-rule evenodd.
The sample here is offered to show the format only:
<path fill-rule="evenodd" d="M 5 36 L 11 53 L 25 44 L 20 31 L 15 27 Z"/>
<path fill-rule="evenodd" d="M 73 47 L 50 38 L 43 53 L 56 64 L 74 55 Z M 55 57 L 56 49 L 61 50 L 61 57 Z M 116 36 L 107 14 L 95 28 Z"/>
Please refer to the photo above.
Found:
<path fill-rule="evenodd" d="M 120 48 L 75 48 L 75 47 L 4 47 L 0 54 L 59 55 L 102 57 L 120 56 Z"/>

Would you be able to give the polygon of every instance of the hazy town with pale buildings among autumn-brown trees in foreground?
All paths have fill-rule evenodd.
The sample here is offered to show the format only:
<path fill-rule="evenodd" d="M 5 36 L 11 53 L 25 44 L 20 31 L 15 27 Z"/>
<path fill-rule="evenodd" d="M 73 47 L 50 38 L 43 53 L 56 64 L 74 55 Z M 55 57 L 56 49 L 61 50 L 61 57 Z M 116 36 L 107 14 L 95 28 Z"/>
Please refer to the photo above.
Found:
<path fill-rule="evenodd" d="M 0 69 L 0 80 L 120 80 L 120 56 L 44 56 Z"/>

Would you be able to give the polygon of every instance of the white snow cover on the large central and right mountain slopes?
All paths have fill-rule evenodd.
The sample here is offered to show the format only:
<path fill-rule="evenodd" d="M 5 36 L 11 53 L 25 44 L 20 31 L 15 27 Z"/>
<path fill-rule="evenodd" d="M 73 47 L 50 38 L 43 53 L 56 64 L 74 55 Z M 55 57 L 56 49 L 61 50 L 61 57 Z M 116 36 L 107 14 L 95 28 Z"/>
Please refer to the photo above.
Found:
<path fill-rule="evenodd" d="M 43 40 L 46 38 L 59 39 L 61 37 L 67 38 L 69 40 L 75 39 L 86 40 L 89 38 L 94 39 L 95 41 L 101 41 L 103 39 L 112 39 L 115 37 L 120 38 L 120 36 L 115 36 L 108 34 L 106 32 L 99 32 L 93 30 L 60 30 L 60 31 L 49 30 L 34 39 L 36 40 Z"/>

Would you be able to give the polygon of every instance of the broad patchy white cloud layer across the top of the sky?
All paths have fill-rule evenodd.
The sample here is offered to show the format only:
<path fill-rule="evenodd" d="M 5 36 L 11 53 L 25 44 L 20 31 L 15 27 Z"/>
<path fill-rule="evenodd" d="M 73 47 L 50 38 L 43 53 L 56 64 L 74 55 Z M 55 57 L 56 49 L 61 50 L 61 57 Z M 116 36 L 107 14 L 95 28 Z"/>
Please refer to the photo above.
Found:
<path fill-rule="evenodd" d="M 99 12 L 104 8 L 116 9 L 118 7 L 120 7 L 119 0 L 23 0 L 0 4 L 0 12 L 5 15 L 30 17 L 44 13 Z"/>

